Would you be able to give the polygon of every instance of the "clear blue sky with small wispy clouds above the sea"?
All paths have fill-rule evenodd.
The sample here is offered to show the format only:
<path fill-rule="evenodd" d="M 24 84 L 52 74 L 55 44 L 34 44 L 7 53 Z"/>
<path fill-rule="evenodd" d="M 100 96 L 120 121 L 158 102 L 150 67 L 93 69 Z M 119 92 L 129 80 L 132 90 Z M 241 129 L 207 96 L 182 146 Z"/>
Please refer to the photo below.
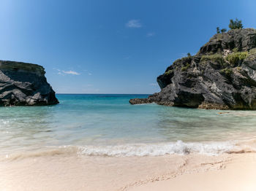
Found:
<path fill-rule="evenodd" d="M 167 66 L 195 54 L 256 1 L 0 0 L 0 59 L 45 67 L 56 93 L 154 93 Z"/>

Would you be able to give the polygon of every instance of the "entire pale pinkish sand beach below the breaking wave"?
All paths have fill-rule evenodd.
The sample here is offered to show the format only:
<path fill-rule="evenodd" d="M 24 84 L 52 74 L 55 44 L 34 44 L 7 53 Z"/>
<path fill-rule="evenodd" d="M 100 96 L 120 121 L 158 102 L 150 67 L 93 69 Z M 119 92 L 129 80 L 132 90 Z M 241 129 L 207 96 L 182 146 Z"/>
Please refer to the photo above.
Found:
<path fill-rule="evenodd" d="M 256 154 L 10 159 L 0 190 L 256 190 Z"/>

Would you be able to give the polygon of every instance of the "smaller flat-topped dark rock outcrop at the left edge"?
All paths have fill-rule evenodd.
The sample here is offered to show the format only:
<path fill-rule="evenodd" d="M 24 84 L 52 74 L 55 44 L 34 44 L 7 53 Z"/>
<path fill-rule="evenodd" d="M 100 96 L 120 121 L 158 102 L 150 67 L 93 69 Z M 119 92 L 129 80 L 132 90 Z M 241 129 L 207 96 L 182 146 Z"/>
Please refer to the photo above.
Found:
<path fill-rule="evenodd" d="M 0 61 L 0 106 L 59 104 L 45 69 L 31 63 Z"/>

